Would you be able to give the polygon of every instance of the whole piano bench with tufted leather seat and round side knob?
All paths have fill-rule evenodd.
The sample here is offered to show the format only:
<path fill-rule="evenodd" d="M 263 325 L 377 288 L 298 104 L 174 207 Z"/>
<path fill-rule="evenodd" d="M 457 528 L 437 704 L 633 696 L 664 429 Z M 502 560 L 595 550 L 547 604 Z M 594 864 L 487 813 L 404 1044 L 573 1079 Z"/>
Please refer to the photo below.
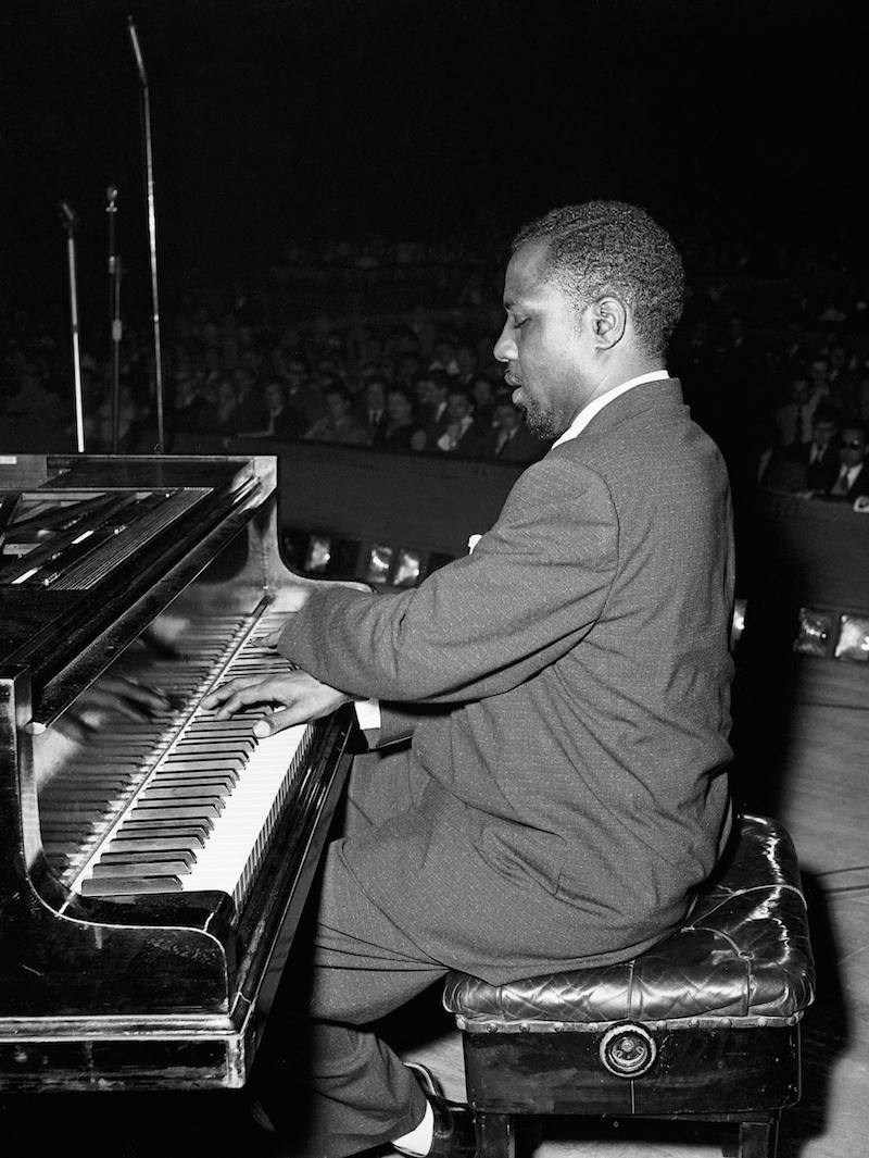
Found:
<path fill-rule="evenodd" d="M 732 1123 L 727 1153 L 774 1158 L 813 984 L 794 845 L 742 816 L 682 929 L 632 961 L 505 985 L 448 975 L 478 1158 L 509 1158 L 524 1114 Z"/>

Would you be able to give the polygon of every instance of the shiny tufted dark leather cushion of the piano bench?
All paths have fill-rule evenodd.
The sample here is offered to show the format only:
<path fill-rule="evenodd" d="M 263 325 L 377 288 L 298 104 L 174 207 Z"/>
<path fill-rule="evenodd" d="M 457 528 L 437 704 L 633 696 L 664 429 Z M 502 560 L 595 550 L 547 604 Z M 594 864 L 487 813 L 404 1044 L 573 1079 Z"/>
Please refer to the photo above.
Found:
<path fill-rule="evenodd" d="M 790 837 L 776 821 L 741 816 L 685 924 L 655 948 L 621 965 L 505 985 L 451 973 L 443 1002 L 470 1032 L 590 1029 L 627 1018 L 775 1025 L 801 1016 L 813 984 Z"/>

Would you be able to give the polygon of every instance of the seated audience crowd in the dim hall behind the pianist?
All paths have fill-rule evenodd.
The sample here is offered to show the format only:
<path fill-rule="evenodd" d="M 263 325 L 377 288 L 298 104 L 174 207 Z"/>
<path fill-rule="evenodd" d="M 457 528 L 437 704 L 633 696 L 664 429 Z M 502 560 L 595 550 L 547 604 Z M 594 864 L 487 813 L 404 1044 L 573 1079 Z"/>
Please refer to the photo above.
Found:
<path fill-rule="evenodd" d="M 797 256 L 763 241 L 752 249 L 710 232 L 683 239 L 683 249 L 693 276 L 670 369 L 722 447 L 737 505 L 758 479 L 796 494 L 830 493 L 839 438 L 864 447 L 869 419 L 869 303 L 848 255 Z M 491 462 L 545 452 L 499 390 L 500 247 L 378 239 L 319 250 L 294 243 L 285 257 L 292 292 L 234 285 L 224 296 L 185 303 L 165 327 L 167 449 L 215 453 L 241 435 Z M 331 312 L 307 309 L 312 291 L 318 301 L 332 294 Z M 406 310 L 411 293 L 418 305 Z M 763 329 L 745 321 L 759 316 L 757 302 Z M 74 449 L 65 312 L 10 308 L 1 324 L 0 450 Z M 147 322 L 125 324 L 125 453 L 155 449 L 150 345 Z M 81 368 L 86 449 L 110 450 L 111 359 L 87 351 Z M 845 450 L 864 457 L 859 447 Z"/>

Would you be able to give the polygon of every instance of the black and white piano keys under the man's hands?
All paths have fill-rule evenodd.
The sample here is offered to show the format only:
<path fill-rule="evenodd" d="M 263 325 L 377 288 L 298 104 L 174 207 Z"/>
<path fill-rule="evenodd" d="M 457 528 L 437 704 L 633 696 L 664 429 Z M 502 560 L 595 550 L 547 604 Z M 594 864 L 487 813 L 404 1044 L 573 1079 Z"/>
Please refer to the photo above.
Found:
<path fill-rule="evenodd" d="M 312 730 L 300 725 L 258 739 L 252 727 L 265 709 L 218 720 L 199 701 L 227 677 L 292 670 L 258 643 L 270 626 L 267 618 L 260 620 L 256 637 L 238 647 L 219 675 L 211 664 L 207 679 L 201 672 L 191 676 L 184 696 L 193 701 L 193 711 L 140 775 L 119 818 L 79 871 L 74 892 L 124 896 L 218 889 L 243 904 Z M 127 750 L 135 754 L 141 740 L 123 735 L 113 743 L 117 752 L 110 752 L 109 761 Z"/>

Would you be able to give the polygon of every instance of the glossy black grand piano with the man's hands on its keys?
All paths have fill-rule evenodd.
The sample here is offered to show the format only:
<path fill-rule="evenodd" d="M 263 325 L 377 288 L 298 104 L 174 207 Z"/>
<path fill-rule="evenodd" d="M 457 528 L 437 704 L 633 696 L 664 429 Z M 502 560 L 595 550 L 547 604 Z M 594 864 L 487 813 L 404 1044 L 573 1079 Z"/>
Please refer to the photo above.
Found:
<path fill-rule="evenodd" d="M 246 1080 L 353 734 L 201 708 L 283 664 L 275 488 L 268 456 L 0 456 L 0 1090 Z"/>

